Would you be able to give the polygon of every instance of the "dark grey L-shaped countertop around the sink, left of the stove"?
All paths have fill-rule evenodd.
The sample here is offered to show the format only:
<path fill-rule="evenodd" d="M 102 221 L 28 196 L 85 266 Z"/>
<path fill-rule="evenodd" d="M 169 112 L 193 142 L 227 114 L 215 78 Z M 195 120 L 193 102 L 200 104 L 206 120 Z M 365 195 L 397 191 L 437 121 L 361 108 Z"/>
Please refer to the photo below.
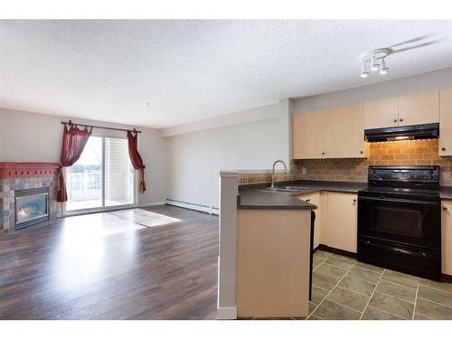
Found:
<path fill-rule="evenodd" d="M 315 210 L 315 205 L 297 199 L 297 196 L 321 191 L 358 193 L 358 191 L 367 187 L 366 183 L 315 180 L 278 182 L 275 185 L 277 187 L 301 186 L 307 189 L 294 193 L 275 193 L 259 191 L 259 189 L 268 187 L 268 184 L 242 184 L 239 186 L 238 208 L 240 210 Z"/>

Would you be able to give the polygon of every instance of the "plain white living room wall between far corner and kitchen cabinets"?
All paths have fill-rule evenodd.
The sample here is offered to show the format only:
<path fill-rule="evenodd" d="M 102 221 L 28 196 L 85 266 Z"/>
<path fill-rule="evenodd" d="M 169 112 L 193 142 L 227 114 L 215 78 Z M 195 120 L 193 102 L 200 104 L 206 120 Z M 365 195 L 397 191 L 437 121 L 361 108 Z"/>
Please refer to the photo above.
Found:
<path fill-rule="evenodd" d="M 261 120 L 256 119 L 259 110 Z M 204 129 L 211 122 L 200 122 L 202 130 L 191 126 L 189 133 L 167 137 L 168 198 L 218 207 L 220 169 L 268 170 L 276 159 L 288 161 L 287 115 L 287 100 L 282 100 L 221 117 L 229 126 Z M 239 122 L 232 125 L 238 116 Z"/>

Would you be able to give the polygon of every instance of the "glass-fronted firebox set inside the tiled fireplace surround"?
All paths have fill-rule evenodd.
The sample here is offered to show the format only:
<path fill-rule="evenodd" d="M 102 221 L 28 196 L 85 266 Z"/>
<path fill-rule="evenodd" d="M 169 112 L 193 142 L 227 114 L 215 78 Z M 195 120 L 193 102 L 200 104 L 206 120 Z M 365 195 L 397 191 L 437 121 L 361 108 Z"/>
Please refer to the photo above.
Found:
<path fill-rule="evenodd" d="M 49 220 L 49 188 L 14 192 L 14 230 Z"/>

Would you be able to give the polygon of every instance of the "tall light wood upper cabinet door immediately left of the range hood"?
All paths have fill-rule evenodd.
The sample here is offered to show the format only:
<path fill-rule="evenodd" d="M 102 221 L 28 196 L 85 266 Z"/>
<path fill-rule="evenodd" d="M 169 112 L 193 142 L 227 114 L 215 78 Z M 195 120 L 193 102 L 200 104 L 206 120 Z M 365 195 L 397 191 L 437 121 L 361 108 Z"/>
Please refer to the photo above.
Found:
<path fill-rule="evenodd" d="M 344 157 L 362 158 L 369 156 L 369 147 L 364 142 L 364 110 L 363 103 L 337 108 L 341 118 L 342 142 Z"/>

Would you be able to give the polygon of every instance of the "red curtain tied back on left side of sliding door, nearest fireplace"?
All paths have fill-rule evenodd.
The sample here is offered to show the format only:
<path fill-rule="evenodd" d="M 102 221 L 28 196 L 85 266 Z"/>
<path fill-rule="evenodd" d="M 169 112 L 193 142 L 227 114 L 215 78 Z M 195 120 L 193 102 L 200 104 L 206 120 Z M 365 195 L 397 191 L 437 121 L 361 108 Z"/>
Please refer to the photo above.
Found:
<path fill-rule="evenodd" d="M 66 184 L 64 183 L 64 176 L 62 175 L 62 167 L 74 165 L 79 160 L 81 152 L 91 135 L 92 127 L 88 130 L 79 129 L 77 125 L 70 125 L 69 128 L 64 124 L 61 145 L 61 168 L 58 176 L 58 202 L 67 202 L 68 193 L 66 192 Z"/>

